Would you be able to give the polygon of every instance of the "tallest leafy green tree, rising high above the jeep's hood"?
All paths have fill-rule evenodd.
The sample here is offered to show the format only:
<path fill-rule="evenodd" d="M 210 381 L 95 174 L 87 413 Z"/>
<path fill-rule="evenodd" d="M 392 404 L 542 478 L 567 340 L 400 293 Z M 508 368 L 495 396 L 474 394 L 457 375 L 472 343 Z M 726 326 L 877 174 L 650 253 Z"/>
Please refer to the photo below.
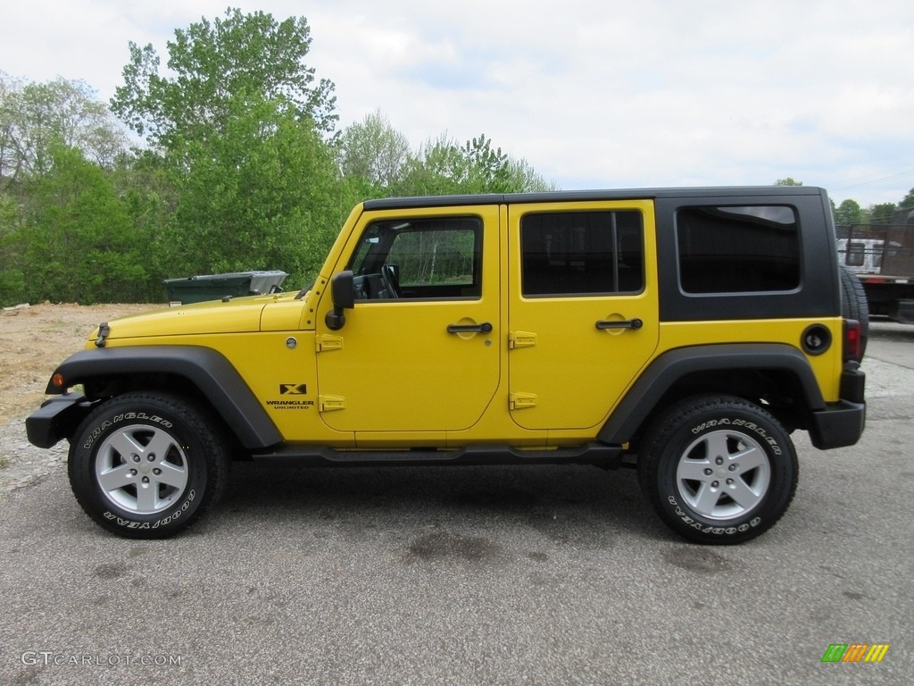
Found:
<path fill-rule="evenodd" d="M 152 46 L 131 44 L 112 108 L 151 144 L 136 171 L 167 179 L 131 206 L 167 218 L 155 234 L 166 276 L 278 269 L 295 282 L 316 271 L 351 189 L 324 138 L 334 87 L 304 66 L 310 46 L 303 17 L 231 8 L 175 31 L 175 76 L 159 74 Z"/>

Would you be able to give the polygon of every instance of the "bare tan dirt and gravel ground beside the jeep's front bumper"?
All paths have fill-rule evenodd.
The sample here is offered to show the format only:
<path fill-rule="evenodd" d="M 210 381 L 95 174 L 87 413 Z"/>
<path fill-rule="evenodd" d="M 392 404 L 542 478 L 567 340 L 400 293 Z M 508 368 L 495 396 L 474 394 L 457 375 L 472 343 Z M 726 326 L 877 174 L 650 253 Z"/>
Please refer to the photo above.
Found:
<path fill-rule="evenodd" d="M 164 305 L 20 305 L 0 311 L 0 498 L 47 476 L 68 444 L 30 445 L 26 417 L 45 399 L 48 378 L 83 348 L 101 322 Z"/>

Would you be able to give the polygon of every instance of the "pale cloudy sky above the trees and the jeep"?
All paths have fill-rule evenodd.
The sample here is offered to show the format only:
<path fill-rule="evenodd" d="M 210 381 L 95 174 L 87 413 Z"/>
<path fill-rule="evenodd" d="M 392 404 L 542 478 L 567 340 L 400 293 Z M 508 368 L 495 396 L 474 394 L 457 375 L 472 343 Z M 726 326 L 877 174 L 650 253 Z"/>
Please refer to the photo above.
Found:
<path fill-rule="evenodd" d="M 339 128 L 380 111 L 414 150 L 485 134 L 558 188 L 769 185 L 836 204 L 914 188 L 910 0 L 28 0 L 0 5 L 0 71 L 107 102 L 129 43 L 228 6 L 304 16 Z"/>

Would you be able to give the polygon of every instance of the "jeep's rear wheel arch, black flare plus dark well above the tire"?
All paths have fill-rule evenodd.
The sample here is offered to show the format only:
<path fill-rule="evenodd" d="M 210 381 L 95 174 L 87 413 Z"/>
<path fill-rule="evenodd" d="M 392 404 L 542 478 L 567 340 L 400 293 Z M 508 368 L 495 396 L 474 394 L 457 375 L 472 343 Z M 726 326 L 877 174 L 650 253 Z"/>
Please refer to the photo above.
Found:
<path fill-rule="evenodd" d="M 690 346 L 654 359 L 598 438 L 611 445 L 629 443 L 657 413 L 689 395 L 723 392 L 759 402 L 763 388 L 778 389 L 788 399 L 767 409 L 794 428 L 805 428 L 806 418 L 825 407 L 813 370 L 797 348 L 779 343 Z"/>

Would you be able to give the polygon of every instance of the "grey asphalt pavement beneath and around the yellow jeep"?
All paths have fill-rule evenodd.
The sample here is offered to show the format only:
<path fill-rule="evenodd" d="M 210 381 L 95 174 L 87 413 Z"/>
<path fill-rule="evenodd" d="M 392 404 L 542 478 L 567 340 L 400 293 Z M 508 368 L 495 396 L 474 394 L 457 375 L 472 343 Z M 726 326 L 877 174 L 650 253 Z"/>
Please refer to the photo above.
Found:
<path fill-rule="evenodd" d="M 759 539 L 677 539 L 587 466 L 233 467 L 128 541 L 65 470 L 0 504 L 2 684 L 909 684 L 914 327 L 874 323 L 860 444 L 795 436 Z M 887 645 L 879 662 L 824 662 Z"/>

